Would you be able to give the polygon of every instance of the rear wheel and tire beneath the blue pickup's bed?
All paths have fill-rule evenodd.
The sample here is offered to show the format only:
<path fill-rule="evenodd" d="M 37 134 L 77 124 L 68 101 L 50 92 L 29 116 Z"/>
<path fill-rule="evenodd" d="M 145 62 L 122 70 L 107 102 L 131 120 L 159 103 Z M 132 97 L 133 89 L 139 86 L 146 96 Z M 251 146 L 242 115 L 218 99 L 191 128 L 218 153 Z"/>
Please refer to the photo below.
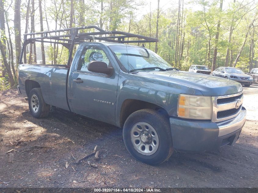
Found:
<path fill-rule="evenodd" d="M 33 117 L 44 118 L 48 116 L 50 105 L 45 103 L 40 88 L 33 88 L 31 90 L 28 103 Z"/>

